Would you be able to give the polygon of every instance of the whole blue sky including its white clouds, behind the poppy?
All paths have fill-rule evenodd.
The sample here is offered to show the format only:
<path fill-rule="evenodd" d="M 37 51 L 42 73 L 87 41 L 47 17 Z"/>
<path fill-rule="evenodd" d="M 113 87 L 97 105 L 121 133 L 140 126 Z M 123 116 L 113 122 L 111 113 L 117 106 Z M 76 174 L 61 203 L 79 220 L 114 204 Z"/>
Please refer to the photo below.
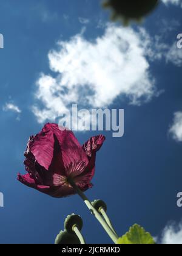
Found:
<path fill-rule="evenodd" d="M 78 196 L 53 199 L 16 180 L 30 135 L 74 102 L 125 112 L 124 137 L 102 132 L 87 196 L 107 202 L 120 235 L 138 223 L 159 239 L 166 227 L 163 242 L 182 241 L 181 11 L 181 1 L 164 1 L 141 26 L 123 27 L 98 0 L 1 1 L 0 243 L 54 243 L 70 213 L 83 217 L 87 243 L 110 243 Z"/>

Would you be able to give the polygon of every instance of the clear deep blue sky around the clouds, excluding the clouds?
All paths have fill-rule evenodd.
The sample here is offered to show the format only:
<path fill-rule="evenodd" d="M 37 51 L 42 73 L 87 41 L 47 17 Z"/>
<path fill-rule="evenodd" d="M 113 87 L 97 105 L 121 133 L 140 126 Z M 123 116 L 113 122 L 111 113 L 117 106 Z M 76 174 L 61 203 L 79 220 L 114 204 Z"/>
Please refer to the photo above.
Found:
<path fill-rule="evenodd" d="M 161 20 L 170 23 L 175 18 L 180 26 L 163 38 L 164 43 L 172 43 L 182 32 L 181 10 L 161 5 L 143 26 L 154 37 L 160 34 Z M 0 33 L 4 35 L 4 49 L 0 50 L 0 191 L 5 204 L 0 208 L 0 243 L 54 243 L 70 213 L 83 217 L 87 243 L 110 243 L 78 196 L 53 199 L 16 180 L 18 172 L 24 174 L 27 140 L 42 127 L 30 109 L 35 81 L 39 73 L 51 73 L 47 53 L 56 41 L 69 40 L 80 32 L 83 24 L 78 17 L 90 20 L 85 34 L 90 40 L 103 34 L 96 26 L 99 20 L 107 23 L 109 13 L 98 0 L 0 3 Z M 182 190 L 181 144 L 168 134 L 174 113 L 182 110 L 181 68 L 162 59 L 151 62 L 150 71 L 158 90 L 164 92 L 140 107 L 123 98 L 110 106 L 125 110 L 124 137 L 116 139 L 103 132 L 107 140 L 97 155 L 94 187 L 86 192 L 90 199 L 107 202 L 120 235 L 138 223 L 157 236 L 167 222 L 180 222 L 182 215 L 176 198 Z M 16 113 L 2 110 L 9 101 L 21 108 L 20 120 Z M 81 143 L 92 135 L 95 133 L 76 133 Z"/>

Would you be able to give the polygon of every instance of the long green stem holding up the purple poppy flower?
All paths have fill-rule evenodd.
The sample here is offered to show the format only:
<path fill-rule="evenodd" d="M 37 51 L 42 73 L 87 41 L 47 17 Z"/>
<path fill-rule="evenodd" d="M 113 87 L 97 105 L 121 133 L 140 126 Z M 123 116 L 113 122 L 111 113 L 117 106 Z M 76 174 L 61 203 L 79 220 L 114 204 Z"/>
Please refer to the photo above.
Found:
<path fill-rule="evenodd" d="M 110 236 L 113 243 L 118 243 L 118 236 L 113 232 L 113 230 L 109 227 L 106 221 L 104 221 L 103 217 L 98 213 L 98 211 L 93 207 L 89 199 L 86 195 L 76 186 L 75 182 L 72 179 L 69 179 L 68 182 L 72 185 L 75 192 L 83 199 L 87 207 L 89 208 L 90 212 L 95 216 L 95 218 L 100 222 L 101 226 L 103 226 L 106 233 Z"/>

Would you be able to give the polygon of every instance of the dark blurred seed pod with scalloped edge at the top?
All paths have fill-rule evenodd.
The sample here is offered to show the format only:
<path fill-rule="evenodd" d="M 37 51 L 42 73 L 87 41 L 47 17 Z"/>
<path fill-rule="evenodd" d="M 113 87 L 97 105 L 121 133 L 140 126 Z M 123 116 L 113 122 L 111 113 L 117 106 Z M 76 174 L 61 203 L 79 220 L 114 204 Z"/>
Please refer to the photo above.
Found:
<path fill-rule="evenodd" d="M 130 20 L 141 21 L 158 3 L 159 0 L 106 0 L 103 7 L 112 9 L 113 21 L 123 20 L 128 24 Z"/>

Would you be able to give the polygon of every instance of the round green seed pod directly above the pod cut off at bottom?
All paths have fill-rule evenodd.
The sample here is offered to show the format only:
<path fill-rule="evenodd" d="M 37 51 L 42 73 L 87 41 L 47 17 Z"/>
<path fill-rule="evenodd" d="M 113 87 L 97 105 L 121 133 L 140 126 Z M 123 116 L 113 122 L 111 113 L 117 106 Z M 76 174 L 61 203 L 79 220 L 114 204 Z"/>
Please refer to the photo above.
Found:
<path fill-rule="evenodd" d="M 74 234 L 73 226 L 78 227 L 79 231 L 83 228 L 83 220 L 81 216 L 75 215 L 74 213 L 72 215 L 67 216 L 65 222 L 64 222 L 64 228 L 66 231 L 70 234 Z"/>

